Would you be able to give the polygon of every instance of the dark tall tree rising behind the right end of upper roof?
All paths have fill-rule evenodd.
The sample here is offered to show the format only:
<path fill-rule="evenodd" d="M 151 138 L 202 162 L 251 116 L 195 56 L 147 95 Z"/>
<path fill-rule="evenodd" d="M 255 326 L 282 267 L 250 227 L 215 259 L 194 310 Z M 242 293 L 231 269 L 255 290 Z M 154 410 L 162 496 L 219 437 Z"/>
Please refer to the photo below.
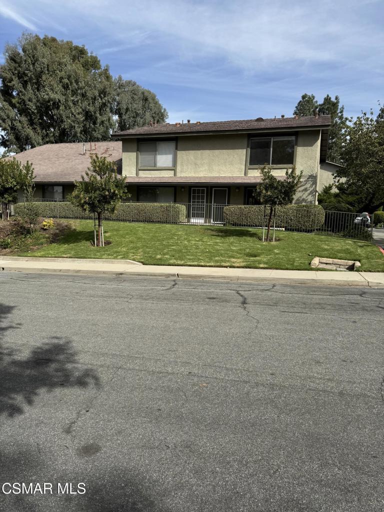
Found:
<path fill-rule="evenodd" d="M 297 116 L 314 116 L 316 112 L 319 115 L 331 116 L 327 159 L 331 162 L 339 163 L 343 133 L 346 130 L 348 121 L 350 121 L 349 118 L 344 117 L 344 105 L 340 106 L 340 98 L 338 96 L 332 99 L 331 96 L 327 94 L 323 102 L 318 103 L 313 94 L 303 94 L 293 114 Z"/>

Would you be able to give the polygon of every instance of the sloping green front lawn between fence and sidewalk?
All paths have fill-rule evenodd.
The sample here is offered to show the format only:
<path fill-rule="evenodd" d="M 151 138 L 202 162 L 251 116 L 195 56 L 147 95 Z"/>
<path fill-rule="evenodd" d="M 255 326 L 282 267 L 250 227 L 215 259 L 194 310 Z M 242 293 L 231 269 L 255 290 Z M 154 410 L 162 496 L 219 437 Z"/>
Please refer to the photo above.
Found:
<path fill-rule="evenodd" d="M 357 260 L 361 270 L 384 271 L 384 255 L 378 247 L 335 236 L 277 231 L 277 242 L 263 244 L 258 229 L 105 222 L 104 239 L 112 243 L 93 247 L 93 222 L 70 222 L 74 229 L 63 233 L 55 243 L 17 255 L 284 270 L 309 270 L 312 258 L 319 256 Z"/>

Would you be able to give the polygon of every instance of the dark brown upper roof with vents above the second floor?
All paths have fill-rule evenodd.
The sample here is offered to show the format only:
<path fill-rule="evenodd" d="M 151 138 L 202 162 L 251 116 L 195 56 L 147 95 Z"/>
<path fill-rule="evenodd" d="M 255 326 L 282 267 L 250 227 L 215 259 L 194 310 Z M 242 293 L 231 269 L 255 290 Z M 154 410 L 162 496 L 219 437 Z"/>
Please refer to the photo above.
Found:
<path fill-rule="evenodd" d="M 304 129 L 315 127 L 326 127 L 331 123 L 331 116 L 303 116 L 303 117 L 284 117 L 276 119 L 245 119 L 239 121 L 214 121 L 203 123 L 184 123 L 184 124 L 157 124 L 153 126 L 143 126 L 133 130 L 116 132 L 113 137 L 126 138 L 137 136 L 154 135 L 173 135 L 173 134 L 209 134 L 216 132 L 254 132 L 258 130 L 273 129 Z"/>

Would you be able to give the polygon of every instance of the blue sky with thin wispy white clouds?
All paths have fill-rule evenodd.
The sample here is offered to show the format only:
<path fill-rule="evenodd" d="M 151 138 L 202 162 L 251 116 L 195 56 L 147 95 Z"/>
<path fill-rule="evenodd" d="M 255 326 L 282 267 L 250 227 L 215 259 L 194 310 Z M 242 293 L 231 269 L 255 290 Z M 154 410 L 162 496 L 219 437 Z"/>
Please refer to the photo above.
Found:
<path fill-rule="evenodd" d="M 72 39 L 170 122 L 289 116 L 305 92 L 356 116 L 384 102 L 383 20 L 383 0 L 0 0 L 0 46 Z"/>

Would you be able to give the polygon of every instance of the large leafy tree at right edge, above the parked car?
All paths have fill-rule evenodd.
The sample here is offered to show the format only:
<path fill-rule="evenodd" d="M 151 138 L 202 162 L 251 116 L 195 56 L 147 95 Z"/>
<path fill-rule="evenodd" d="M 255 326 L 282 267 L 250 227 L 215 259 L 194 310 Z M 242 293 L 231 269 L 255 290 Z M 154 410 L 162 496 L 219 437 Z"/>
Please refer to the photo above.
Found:
<path fill-rule="evenodd" d="M 384 204 L 384 120 L 372 111 L 358 116 L 345 131 L 340 156 L 337 187 L 360 198 L 360 211 L 377 210 Z"/>

